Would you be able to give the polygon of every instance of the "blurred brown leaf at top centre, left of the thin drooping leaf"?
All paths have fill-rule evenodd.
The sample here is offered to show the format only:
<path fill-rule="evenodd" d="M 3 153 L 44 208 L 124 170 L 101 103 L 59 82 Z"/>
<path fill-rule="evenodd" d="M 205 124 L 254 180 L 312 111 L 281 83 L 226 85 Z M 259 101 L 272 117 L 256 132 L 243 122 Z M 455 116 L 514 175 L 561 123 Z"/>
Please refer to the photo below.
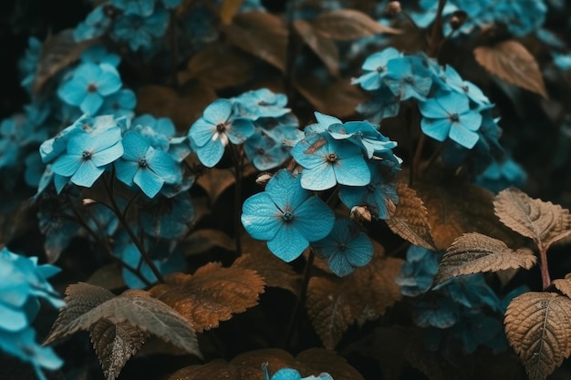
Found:
<path fill-rule="evenodd" d="M 260 11 L 240 13 L 232 24 L 223 26 L 223 32 L 234 46 L 285 71 L 287 28 L 278 16 Z"/>

